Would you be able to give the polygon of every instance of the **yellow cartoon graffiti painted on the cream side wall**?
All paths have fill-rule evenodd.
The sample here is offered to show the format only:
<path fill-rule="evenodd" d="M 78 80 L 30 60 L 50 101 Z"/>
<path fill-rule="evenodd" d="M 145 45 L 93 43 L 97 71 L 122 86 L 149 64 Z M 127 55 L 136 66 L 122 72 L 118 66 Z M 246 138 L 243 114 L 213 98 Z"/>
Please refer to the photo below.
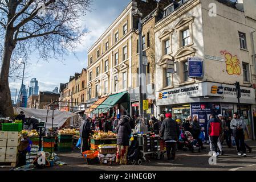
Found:
<path fill-rule="evenodd" d="M 240 61 L 237 59 L 237 55 L 233 56 L 231 53 L 221 51 L 221 55 L 225 55 L 226 71 L 229 75 L 241 75 Z"/>

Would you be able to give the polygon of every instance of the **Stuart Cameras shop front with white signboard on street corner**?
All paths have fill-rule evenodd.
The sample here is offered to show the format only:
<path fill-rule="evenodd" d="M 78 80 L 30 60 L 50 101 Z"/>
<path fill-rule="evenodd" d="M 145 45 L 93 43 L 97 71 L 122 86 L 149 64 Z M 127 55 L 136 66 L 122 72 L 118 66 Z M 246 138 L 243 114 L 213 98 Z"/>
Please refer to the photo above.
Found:
<path fill-rule="evenodd" d="M 234 85 L 215 82 L 200 82 L 157 92 L 157 113 L 171 112 L 173 118 L 182 121 L 189 115 L 197 115 L 200 125 L 206 129 L 210 114 L 222 114 L 224 117 L 238 112 L 245 121 L 249 131 L 254 133 L 252 105 L 255 104 L 255 89 L 241 86 L 240 108 L 238 106 Z M 246 138 L 248 138 L 246 136 Z"/>

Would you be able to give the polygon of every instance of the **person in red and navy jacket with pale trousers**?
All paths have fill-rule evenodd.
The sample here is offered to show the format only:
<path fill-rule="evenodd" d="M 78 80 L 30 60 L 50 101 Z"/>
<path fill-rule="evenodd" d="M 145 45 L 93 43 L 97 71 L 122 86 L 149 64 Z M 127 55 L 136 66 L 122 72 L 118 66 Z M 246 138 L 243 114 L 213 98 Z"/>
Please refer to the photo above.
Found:
<path fill-rule="evenodd" d="M 220 155 L 218 152 L 218 141 L 222 132 L 221 122 L 214 116 L 210 115 L 210 120 L 207 124 L 208 135 L 210 139 L 210 151 L 216 152 L 216 157 Z M 220 143 L 221 144 L 221 143 Z"/>

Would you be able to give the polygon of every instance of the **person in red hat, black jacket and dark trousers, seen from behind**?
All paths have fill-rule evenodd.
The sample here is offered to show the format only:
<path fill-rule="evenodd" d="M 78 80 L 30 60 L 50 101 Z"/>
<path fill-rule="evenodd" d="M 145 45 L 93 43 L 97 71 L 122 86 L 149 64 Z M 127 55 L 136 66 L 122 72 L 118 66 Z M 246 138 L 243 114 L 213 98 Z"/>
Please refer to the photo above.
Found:
<path fill-rule="evenodd" d="M 172 114 L 166 113 L 165 119 L 162 122 L 160 137 L 164 138 L 166 143 L 166 154 L 170 162 L 173 162 L 176 157 L 176 145 L 180 128 L 177 122 L 172 119 Z"/>

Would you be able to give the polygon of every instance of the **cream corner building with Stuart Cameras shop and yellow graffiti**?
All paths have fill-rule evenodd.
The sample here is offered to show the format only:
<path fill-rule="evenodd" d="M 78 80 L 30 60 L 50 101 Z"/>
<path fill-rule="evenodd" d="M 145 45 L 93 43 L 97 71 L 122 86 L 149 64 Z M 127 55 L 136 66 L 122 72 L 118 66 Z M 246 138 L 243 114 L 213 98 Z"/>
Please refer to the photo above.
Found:
<path fill-rule="evenodd" d="M 166 6 L 155 24 L 156 115 L 168 111 L 180 119 L 197 115 L 206 128 L 209 114 L 233 117 L 239 111 L 255 137 L 251 35 L 256 30 L 256 2 L 238 2 L 187 0 Z"/>

